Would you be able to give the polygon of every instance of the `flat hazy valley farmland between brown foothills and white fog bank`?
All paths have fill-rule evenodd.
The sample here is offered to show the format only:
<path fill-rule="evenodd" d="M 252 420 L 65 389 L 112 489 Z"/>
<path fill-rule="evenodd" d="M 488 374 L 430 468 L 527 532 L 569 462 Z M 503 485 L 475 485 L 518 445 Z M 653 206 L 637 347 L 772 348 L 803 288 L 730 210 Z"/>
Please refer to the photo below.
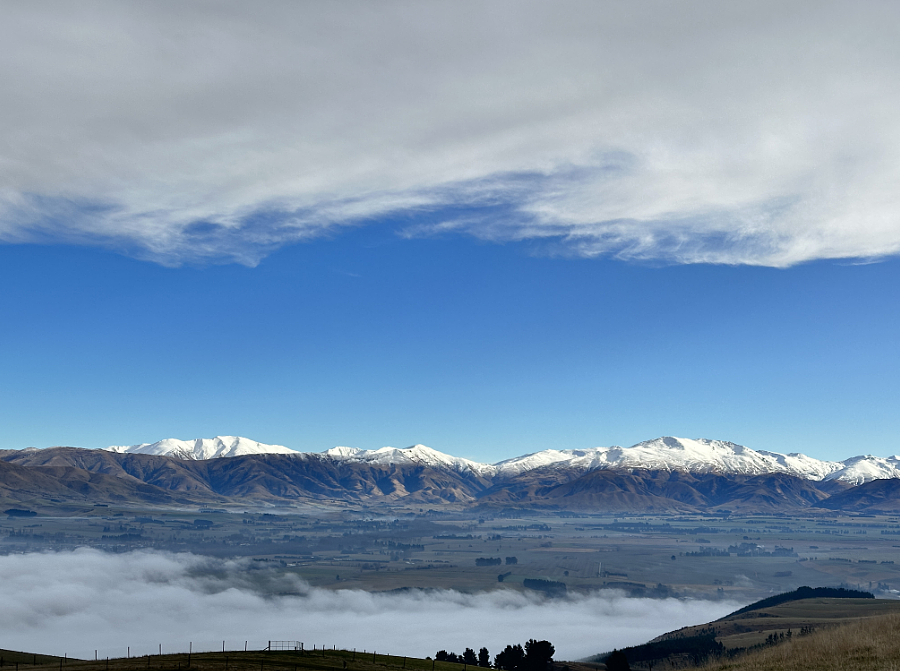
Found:
<path fill-rule="evenodd" d="M 272 509 L 270 509 L 272 510 Z M 244 557 L 330 589 L 618 589 L 749 602 L 800 585 L 900 596 L 900 519 L 862 515 L 276 512 L 64 506 L 0 521 L 0 553 L 94 547 Z"/>

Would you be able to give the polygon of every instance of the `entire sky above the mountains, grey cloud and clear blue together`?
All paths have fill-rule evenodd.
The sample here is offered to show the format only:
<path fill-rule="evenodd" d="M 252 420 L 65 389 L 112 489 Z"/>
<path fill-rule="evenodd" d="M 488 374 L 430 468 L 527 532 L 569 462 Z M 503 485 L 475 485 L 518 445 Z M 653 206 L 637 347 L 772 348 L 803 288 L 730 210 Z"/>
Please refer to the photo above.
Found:
<path fill-rule="evenodd" d="M 46 0 L 0 447 L 900 451 L 895 3 Z"/>

